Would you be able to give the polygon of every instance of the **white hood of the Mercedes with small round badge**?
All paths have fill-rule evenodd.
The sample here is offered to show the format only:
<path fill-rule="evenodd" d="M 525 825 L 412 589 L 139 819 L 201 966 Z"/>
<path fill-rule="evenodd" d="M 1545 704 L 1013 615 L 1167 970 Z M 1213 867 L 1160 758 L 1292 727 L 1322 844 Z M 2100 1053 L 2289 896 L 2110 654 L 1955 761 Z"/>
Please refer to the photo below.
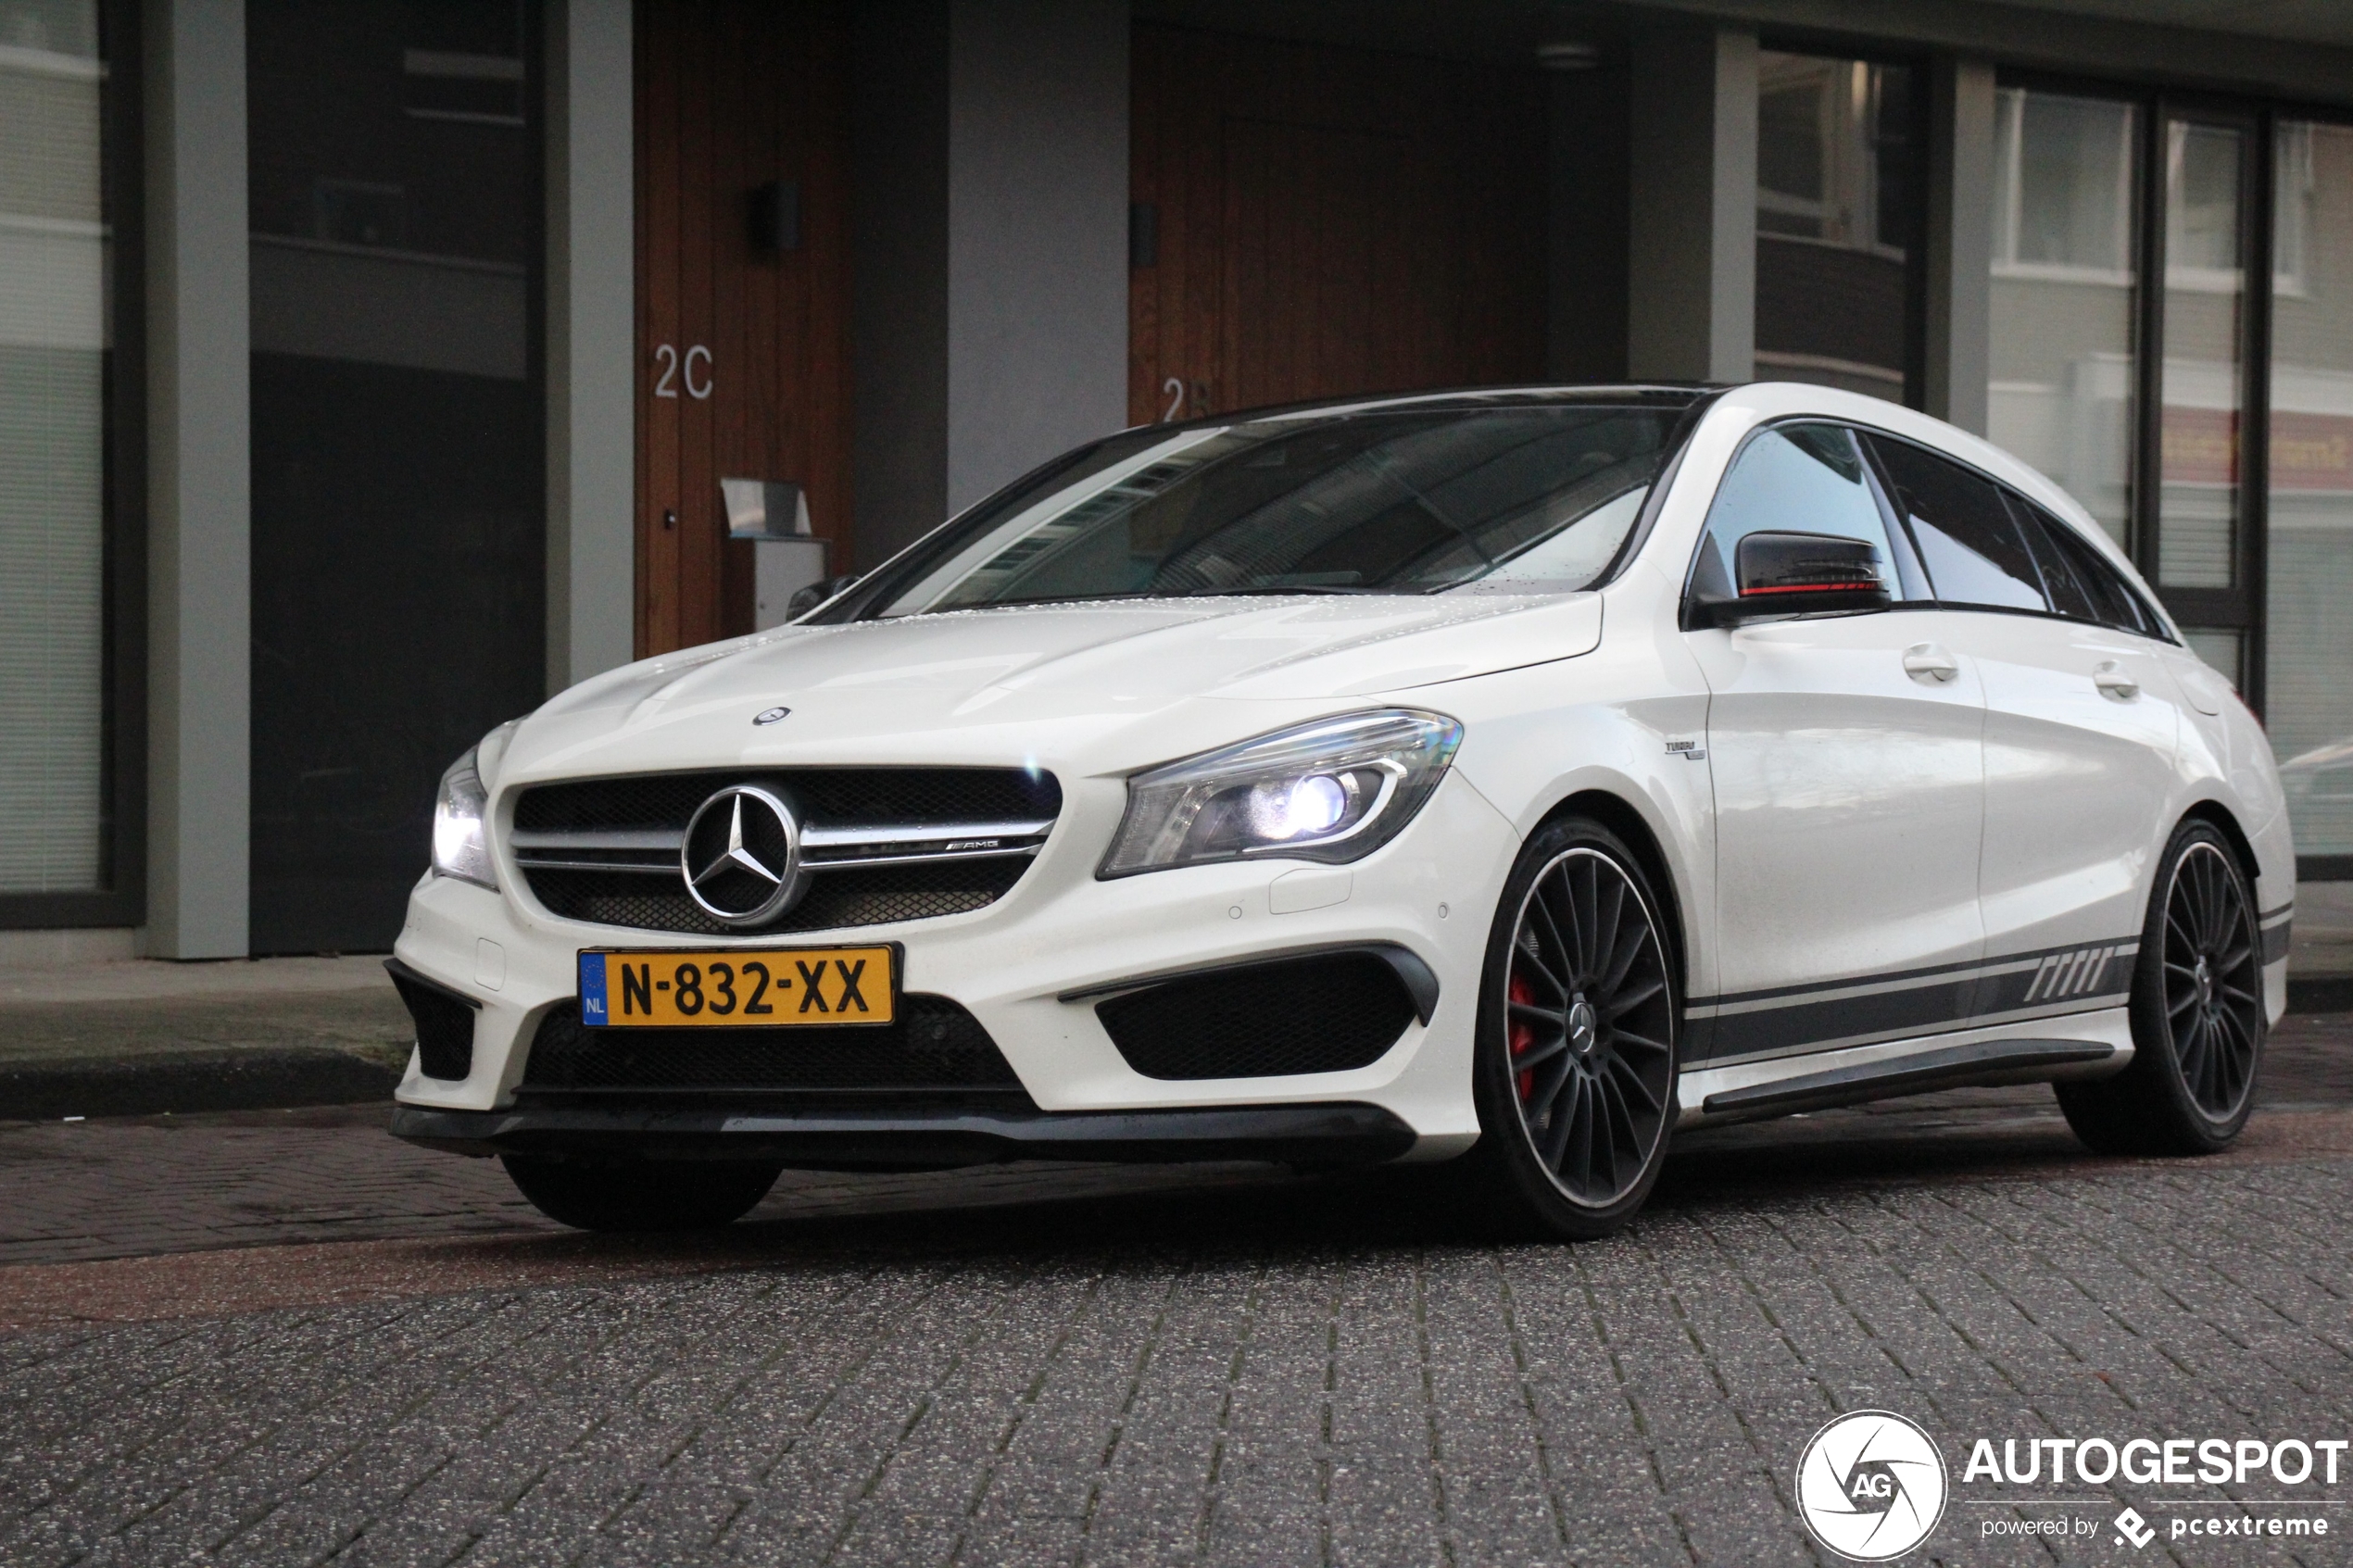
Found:
<path fill-rule="evenodd" d="M 1024 757 L 1049 731 L 1134 729 L 1198 698 L 1344 701 L 1574 658 L 1598 646 L 1600 623 L 1600 595 L 1581 592 L 1146 599 L 791 625 L 584 682 L 485 764 L 513 780 Z M 755 726 L 769 708 L 788 708 L 788 722 Z"/>

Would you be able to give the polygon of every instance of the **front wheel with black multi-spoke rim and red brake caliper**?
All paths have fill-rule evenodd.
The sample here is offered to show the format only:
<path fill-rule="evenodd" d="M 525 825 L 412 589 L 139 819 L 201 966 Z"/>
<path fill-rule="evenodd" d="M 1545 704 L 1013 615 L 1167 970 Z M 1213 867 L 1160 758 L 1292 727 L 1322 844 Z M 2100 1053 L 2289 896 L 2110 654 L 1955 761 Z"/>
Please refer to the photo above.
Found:
<path fill-rule="evenodd" d="M 1605 825 L 1537 830 L 1480 980 L 1480 1140 L 1511 1218 L 1607 1237 L 1649 1197 L 1675 1124 L 1675 961 L 1640 860 Z"/>

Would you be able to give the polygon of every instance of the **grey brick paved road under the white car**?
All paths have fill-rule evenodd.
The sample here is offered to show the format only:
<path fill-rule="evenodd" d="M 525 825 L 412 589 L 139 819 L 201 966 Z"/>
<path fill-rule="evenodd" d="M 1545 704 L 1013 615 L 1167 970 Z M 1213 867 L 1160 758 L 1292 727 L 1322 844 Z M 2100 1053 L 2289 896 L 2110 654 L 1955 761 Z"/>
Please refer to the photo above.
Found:
<path fill-rule="evenodd" d="M 0 1338 L 0 1563 L 1817 1561 L 1791 1474 L 1857 1406 L 1955 1460 L 2353 1436 L 2348 1039 L 2285 1037 L 2271 1100 L 2306 1110 L 2224 1159 L 2097 1161 L 2047 1093 L 1941 1095 L 1694 1138 L 1642 1225 L 1581 1248 L 1466 1241 L 1393 1175 L 1242 1168 L 826 1178 L 654 1246 L 468 1208 L 504 1201 L 492 1171 L 419 1180 L 315 1112 L 19 1128 L 19 1258 L 386 1239 L 0 1267 L 0 1312 L 47 1324 Z M 80 1168 L 42 1152 L 68 1133 Z M 92 1164 L 129 1147 L 99 1138 L 148 1152 Z M 205 1190 L 273 1152 L 224 1220 Z M 40 1213 L 45 1173 L 94 1213 L 141 1171 L 148 1232 Z M 1981 1544 L 2052 1509 L 1965 1502 L 1937 1561 L 2353 1561 Z"/>

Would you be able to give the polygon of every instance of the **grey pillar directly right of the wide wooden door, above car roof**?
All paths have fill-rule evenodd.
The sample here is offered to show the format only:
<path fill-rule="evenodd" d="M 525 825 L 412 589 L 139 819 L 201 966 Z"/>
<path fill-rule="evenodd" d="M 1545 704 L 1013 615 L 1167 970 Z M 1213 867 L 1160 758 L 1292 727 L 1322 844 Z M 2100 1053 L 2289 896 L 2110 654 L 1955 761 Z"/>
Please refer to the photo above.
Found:
<path fill-rule="evenodd" d="M 1626 374 L 1755 376 L 1758 40 L 1645 21 L 1628 75 Z"/>

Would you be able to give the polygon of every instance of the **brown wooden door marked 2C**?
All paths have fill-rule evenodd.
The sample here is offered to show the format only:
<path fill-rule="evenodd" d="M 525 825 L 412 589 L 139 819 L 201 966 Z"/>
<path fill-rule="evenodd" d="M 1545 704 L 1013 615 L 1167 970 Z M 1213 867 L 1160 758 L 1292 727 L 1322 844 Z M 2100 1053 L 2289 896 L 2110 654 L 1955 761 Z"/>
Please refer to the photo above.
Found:
<path fill-rule="evenodd" d="M 835 5 L 635 12 L 642 658 L 751 630 L 720 477 L 798 480 L 849 569 L 849 52 Z"/>

